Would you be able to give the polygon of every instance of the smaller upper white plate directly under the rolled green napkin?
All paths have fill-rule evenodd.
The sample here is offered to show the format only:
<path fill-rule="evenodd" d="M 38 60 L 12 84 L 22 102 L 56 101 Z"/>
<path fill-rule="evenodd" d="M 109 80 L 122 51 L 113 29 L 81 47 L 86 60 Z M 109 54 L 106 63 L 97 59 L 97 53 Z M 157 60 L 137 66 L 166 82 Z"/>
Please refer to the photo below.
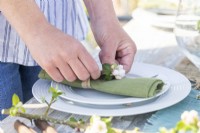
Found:
<path fill-rule="evenodd" d="M 136 70 L 135 68 L 134 70 Z M 163 80 L 164 86 L 163 89 L 153 97 L 150 98 L 136 98 L 136 97 L 127 97 L 127 96 L 120 96 L 120 95 L 112 95 L 100 91 L 96 91 L 94 89 L 83 89 L 83 88 L 72 88 L 67 85 L 63 85 L 61 83 L 57 83 L 55 81 L 51 82 L 51 86 L 54 88 L 57 87 L 61 90 L 63 95 L 60 97 L 66 100 L 70 100 L 77 103 L 84 103 L 84 104 L 93 104 L 93 105 L 120 105 L 120 104 L 144 104 L 146 102 L 152 101 L 154 98 L 157 98 L 167 92 L 170 87 L 170 83 L 167 77 L 163 74 L 156 74 L 152 75 L 152 73 L 144 73 L 141 74 L 141 70 L 138 69 L 135 72 L 129 72 L 129 78 L 138 77 L 155 77 L 158 79 Z M 123 88 L 122 88 L 123 89 Z"/>

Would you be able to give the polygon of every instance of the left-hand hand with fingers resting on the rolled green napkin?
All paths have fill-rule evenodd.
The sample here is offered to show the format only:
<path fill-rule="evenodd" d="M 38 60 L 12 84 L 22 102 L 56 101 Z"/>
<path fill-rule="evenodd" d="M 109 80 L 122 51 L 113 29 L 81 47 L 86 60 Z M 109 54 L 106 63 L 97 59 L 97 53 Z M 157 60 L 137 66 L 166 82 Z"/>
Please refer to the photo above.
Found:
<path fill-rule="evenodd" d="M 57 82 L 100 76 L 97 63 L 83 45 L 51 25 L 26 44 L 36 62 Z"/>

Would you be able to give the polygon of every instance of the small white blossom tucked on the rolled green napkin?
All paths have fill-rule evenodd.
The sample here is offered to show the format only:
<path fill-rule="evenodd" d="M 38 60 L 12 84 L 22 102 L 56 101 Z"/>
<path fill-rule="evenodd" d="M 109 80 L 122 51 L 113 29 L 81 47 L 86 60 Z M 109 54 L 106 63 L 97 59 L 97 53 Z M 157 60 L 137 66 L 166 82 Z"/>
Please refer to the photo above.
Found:
<path fill-rule="evenodd" d="M 126 74 L 126 71 L 123 68 L 123 65 L 118 65 L 113 69 L 112 75 L 115 76 L 116 79 L 122 79 Z"/>

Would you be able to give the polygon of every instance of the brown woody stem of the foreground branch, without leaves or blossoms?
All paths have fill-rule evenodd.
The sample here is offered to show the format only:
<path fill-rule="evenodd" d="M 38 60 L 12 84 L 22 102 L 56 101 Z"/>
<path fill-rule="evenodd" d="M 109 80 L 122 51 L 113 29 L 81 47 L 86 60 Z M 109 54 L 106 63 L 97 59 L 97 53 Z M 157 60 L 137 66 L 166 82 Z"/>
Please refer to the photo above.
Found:
<path fill-rule="evenodd" d="M 10 115 L 9 109 L 3 109 L 2 114 Z M 23 117 L 23 118 L 26 118 L 29 120 L 45 120 L 45 121 L 51 122 L 53 124 L 68 125 L 72 128 L 86 129 L 86 127 L 87 127 L 86 124 L 82 124 L 79 122 L 72 122 L 69 120 L 59 120 L 59 119 L 55 119 L 55 118 L 44 116 L 44 115 L 33 115 L 33 114 L 17 112 L 15 116 Z"/>

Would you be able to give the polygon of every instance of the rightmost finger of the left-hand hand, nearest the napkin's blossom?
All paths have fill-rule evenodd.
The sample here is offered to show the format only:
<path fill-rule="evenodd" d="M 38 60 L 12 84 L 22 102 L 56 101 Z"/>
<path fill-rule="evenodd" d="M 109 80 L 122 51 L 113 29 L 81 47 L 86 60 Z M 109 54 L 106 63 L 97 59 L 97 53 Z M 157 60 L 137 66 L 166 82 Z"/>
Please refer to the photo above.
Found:
<path fill-rule="evenodd" d="M 99 70 L 99 67 L 96 61 L 92 58 L 92 56 L 86 50 L 83 50 L 80 52 L 79 59 L 82 62 L 82 64 L 87 68 L 92 79 L 97 79 L 100 77 L 101 72 Z"/>

